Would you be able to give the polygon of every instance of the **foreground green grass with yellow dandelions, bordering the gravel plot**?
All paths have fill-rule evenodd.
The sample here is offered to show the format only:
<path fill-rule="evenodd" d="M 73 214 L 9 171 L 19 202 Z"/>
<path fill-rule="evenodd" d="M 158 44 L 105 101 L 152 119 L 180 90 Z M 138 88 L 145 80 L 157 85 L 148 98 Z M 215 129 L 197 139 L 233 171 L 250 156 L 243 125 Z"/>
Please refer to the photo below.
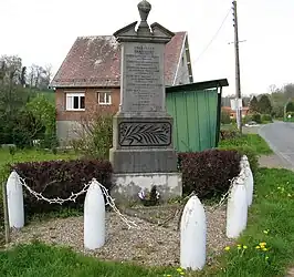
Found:
<path fill-rule="evenodd" d="M 201 273 L 187 273 L 186 276 L 285 276 L 286 268 L 294 265 L 293 196 L 293 172 L 260 168 L 244 234 L 235 246 L 223 252 L 218 265 L 207 267 Z M 0 252 L 0 276 L 156 277 L 164 274 L 180 276 L 176 268 L 143 268 L 98 261 L 70 249 L 39 243 Z"/>

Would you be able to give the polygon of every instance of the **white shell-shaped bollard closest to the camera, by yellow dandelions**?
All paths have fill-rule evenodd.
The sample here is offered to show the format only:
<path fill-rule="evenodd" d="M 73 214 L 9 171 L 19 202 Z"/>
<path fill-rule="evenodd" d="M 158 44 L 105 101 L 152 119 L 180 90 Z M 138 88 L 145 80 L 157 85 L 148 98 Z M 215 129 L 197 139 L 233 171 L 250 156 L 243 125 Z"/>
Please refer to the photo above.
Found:
<path fill-rule="evenodd" d="M 207 223 L 204 208 L 192 196 L 183 208 L 180 225 L 180 266 L 202 269 L 206 265 Z"/>

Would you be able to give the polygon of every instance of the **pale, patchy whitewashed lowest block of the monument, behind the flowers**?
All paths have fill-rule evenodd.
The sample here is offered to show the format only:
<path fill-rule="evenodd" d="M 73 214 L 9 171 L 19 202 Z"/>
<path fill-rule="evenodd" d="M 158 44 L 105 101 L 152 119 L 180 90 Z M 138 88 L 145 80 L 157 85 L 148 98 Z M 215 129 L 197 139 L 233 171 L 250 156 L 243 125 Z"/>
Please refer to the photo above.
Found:
<path fill-rule="evenodd" d="M 112 197 L 117 204 L 139 202 L 138 193 L 150 192 L 155 185 L 160 194 L 160 202 L 182 196 L 181 173 L 133 173 L 113 174 Z"/>

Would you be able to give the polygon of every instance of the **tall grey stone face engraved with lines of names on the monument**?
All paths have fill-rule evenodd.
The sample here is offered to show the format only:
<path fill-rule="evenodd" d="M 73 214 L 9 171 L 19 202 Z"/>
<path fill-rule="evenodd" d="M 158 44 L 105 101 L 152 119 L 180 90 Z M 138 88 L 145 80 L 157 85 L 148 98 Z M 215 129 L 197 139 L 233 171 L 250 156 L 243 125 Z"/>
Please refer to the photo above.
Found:
<path fill-rule="evenodd" d="M 161 45 L 127 43 L 124 51 L 124 110 L 164 110 L 164 55 Z"/>

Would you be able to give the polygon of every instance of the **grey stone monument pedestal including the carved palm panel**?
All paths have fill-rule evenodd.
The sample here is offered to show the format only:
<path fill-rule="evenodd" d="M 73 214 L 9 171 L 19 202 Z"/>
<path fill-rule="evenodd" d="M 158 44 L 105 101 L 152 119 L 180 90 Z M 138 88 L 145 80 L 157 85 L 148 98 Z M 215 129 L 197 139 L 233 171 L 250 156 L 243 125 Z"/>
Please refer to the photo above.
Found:
<path fill-rule="evenodd" d="M 114 173 L 177 172 L 177 153 L 172 147 L 172 117 L 148 117 L 120 113 L 113 121 L 109 161 Z"/>

